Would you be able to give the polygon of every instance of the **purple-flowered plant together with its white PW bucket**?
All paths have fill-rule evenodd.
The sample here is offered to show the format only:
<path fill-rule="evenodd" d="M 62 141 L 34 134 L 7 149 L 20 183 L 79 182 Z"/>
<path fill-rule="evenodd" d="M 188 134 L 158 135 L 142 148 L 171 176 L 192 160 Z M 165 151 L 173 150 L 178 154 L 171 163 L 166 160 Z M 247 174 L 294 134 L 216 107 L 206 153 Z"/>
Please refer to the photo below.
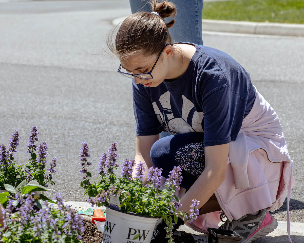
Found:
<path fill-rule="evenodd" d="M 150 243 L 155 224 L 163 218 L 167 224 L 166 238 L 173 243 L 172 228 L 178 221 L 178 216 L 184 221 L 192 221 L 199 215 L 198 201 L 192 200 L 191 214 L 178 211 L 181 204 L 174 195 L 180 190 L 182 180 L 181 169 L 175 167 L 162 187 L 162 169 L 150 167 L 147 183 L 143 183 L 144 164 L 138 163 L 136 176 L 132 178 L 134 159 L 125 159 L 121 166 L 121 173 L 116 176 L 117 143 L 113 143 L 109 151 L 102 154 L 99 161 L 99 172 L 96 181 L 90 178 L 88 171 L 90 150 L 86 142 L 82 143 L 79 158 L 80 173 L 83 173 L 80 186 L 90 197 L 88 202 L 100 207 L 106 206 L 106 217 L 103 230 L 104 243 Z"/>

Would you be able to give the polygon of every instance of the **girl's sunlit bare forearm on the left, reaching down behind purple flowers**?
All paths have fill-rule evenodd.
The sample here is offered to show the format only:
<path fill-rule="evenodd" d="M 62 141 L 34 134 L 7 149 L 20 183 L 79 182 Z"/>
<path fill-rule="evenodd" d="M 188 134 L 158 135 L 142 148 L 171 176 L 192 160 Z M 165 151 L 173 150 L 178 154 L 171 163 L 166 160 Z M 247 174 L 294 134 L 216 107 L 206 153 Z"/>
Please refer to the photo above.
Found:
<path fill-rule="evenodd" d="M 151 161 L 150 151 L 152 145 L 160 139 L 161 135 L 149 135 L 149 136 L 136 136 L 136 153 L 135 153 L 135 162 L 136 165 L 133 167 L 132 176 L 134 178 L 136 174 L 136 166 L 139 162 L 145 163 L 145 172 L 144 175 L 147 176 L 149 172 L 149 167 L 153 166 Z M 146 183 L 147 178 L 143 178 L 143 182 Z"/>

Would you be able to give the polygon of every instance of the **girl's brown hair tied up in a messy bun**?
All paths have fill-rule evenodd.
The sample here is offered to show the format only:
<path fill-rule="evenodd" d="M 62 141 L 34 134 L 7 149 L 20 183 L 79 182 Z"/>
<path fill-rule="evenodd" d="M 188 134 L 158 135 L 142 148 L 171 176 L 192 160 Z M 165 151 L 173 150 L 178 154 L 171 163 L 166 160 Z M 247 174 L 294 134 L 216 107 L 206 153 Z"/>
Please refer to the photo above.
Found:
<path fill-rule="evenodd" d="M 154 56 L 161 52 L 167 44 L 173 43 L 168 28 L 174 25 L 176 6 L 172 2 L 150 0 L 148 2 L 154 12 L 136 12 L 126 18 L 121 24 L 113 43 L 114 30 L 109 34 L 106 43 L 112 53 L 119 59 L 128 60 L 133 55 Z M 172 16 L 169 23 L 164 18 Z"/>

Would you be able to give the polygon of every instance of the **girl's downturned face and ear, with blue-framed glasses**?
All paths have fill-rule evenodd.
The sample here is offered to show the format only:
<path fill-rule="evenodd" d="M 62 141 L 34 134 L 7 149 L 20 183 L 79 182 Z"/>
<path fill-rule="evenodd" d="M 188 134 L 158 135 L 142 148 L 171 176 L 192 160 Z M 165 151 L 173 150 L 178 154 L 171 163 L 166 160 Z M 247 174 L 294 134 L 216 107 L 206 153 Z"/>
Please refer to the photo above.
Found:
<path fill-rule="evenodd" d="M 171 48 L 170 48 L 171 47 Z M 121 61 L 122 68 L 126 70 L 126 72 L 130 74 L 140 74 L 150 72 L 154 63 L 157 60 L 157 63 L 152 70 L 152 79 L 140 79 L 138 77 L 134 77 L 135 84 L 142 84 L 146 87 L 157 87 L 161 84 L 169 74 L 170 70 L 170 62 L 169 59 L 173 56 L 173 48 L 168 45 L 161 53 L 160 58 L 157 60 L 157 56 L 134 56 L 130 58 L 127 62 Z"/>

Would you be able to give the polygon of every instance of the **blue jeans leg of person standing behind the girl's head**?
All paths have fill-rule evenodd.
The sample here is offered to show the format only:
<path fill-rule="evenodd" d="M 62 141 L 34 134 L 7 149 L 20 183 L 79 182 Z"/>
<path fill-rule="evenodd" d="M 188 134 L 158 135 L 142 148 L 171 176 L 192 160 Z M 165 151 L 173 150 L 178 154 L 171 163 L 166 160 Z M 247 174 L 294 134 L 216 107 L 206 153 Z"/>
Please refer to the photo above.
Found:
<path fill-rule="evenodd" d="M 129 0 L 131 11 L 151 12 L 149 4 L 143 0 Z M 173 27 L 169 28 L 169 33 L 174 42 L 185 41 L 203 45 L 202 40 L 202 0 L 171 0 L 177 6 L 177 14 L 174 18 Z M 165 18 L 169 22 L 170 17 Z"/>

